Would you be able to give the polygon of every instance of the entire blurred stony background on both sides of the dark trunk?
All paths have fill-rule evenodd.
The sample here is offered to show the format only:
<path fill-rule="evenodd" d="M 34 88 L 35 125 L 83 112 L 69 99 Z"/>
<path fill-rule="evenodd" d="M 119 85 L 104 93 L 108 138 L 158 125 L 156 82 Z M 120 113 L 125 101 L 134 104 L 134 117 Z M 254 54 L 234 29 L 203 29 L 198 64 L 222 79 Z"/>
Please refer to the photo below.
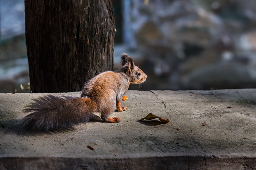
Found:
<path fill-rule="evenodd" d="M 130 55 L 148 75 L 141 90 L 256 88 L 255 0 L 112 3 L 114 69 Z M 24 0 L 0 0 L 0 92 L 28 82 Z"/>

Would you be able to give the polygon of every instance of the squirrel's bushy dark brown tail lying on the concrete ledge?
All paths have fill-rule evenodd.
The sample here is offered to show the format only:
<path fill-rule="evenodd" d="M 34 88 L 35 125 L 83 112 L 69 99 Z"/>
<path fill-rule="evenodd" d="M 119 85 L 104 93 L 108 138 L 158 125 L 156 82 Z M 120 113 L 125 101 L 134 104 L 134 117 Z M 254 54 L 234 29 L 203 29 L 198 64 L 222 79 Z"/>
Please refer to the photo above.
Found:
<path fill-rule="evenodd" d="M 22 120 L 24 128 L 32 131 L 49 131 L 88 122 L 93 117 L 96 105 L 89 98 L 59 97 L 47 95 L 34 99 Z"/>

